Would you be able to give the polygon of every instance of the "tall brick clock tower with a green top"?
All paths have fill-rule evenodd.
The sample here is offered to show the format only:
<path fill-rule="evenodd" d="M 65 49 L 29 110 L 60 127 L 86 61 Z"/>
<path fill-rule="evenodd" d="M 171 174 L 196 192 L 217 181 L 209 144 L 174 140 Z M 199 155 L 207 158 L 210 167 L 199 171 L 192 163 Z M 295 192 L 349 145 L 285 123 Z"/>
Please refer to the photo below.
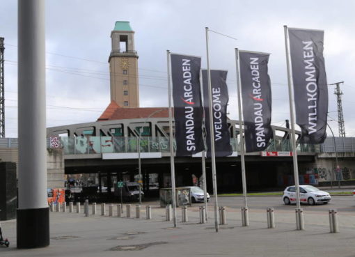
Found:
<path fill-rule="evenodd" d="M 111 101 L 120 107 L 139 107 L 138 55 L 134 50 L 134 31 L 129 22 L 116 22 L 111 32 L 109 57 Z"/>

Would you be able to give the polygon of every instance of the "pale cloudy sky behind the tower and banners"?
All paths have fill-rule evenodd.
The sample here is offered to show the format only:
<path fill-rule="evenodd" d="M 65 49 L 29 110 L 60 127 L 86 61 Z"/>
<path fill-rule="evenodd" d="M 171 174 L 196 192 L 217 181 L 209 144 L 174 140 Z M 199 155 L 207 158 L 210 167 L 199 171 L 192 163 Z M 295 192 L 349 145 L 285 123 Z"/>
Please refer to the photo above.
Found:
<path fill-rule="evenodd" d="M 290 119 L 283 25 L 324 30 L 328 84 L 344 81 L 342 109 L 347 137 L 355 137 L 355 1 L 46 0 L 47 127 L 93 122 L 110 101 L 109 54 L 116 21 L 129 21 L 139 55 L 141 107 L 168 106 L 166 50 L 202 57 L 210 32 L 210 68 L 228 70 L 228 116 L 238 118 L 235 48 L 270 53 L 271 125 Z M 5 38 L 6 137 L 17 137 L 17 1 L 2 0 Z M 329 125 L 338 135 L 334 86 Z M 331 135 L 327 131 L 328 135 Z"/>

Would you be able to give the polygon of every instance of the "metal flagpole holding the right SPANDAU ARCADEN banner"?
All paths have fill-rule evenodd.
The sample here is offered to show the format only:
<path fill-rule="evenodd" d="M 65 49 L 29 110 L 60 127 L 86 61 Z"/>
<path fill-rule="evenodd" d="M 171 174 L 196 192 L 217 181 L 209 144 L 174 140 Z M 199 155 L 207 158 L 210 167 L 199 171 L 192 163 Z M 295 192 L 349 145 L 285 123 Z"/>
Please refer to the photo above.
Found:
<path fill-rule="evenodd" d="M 246 173 L 245 173 L 245 158 L 244 158 L 244 137 L 242 127 L 242 97 L 241 97 L 241 81 L 239 72 L 239 51 L 235 49 L 235 66 L 237 70 L 237 93 L 238 93 L 238 112 L 239 112 L 239 137 L 240 137 L 240 157 L 242 160 L 242 187 L 244 196 L 244 210 L 242 212 L 242 224 L 243 226 L 249 226 L 248 220 L 248 201 L 246 200 Z"/>

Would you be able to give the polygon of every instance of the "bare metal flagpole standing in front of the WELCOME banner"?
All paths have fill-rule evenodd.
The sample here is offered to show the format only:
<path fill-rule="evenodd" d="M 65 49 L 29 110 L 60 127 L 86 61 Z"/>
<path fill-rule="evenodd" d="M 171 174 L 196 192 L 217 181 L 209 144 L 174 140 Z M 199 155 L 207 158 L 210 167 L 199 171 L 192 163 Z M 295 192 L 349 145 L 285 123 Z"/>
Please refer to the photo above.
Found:
<path fill-rule="evenodd" d="M 211 137 L 211 166 L 212 166 L 212 182 L 214 195 L 214 226 L 218 232 L 218 197 L 217 197 L 217 178 L 216 178 L 216 157 L 214 155 L 214 123 L 212 110 L 212 86 L 211 86 L 211 70 L 210 55 L 208 53 L 208 27 L 206 29 L 206 51 L 207 51 L 207 80 L 208 80 L 208 107 L 210 111 L 210 137 Z"/>

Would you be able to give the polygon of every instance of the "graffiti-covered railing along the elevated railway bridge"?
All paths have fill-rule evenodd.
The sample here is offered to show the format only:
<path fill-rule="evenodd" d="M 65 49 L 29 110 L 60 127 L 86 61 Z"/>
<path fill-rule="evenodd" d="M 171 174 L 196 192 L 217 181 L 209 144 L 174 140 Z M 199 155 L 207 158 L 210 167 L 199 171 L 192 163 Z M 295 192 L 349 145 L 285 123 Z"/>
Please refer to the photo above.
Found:
<path fill-rule="evenodd" d="M 56 139 L 56 143 L 52 143 Z M 97 153 L 137 153 L 139 139 L 136 137 L 56 137 L 49 138 L 49 148 L 63 148 L 65 155 L 84 155 Z M 165 137 L 141 137 L 141 153 L 169 153 L 169 141 Z M 230 139 L 233 151 L 239 152 L 239 139 Z M 176 143 L 174 141 L 174 149 Z M 268 151 L 290 151 L 288 139 L 271 139 Z M 299 144 L 298 152 L 314 153 L 317 146 Z"/>

